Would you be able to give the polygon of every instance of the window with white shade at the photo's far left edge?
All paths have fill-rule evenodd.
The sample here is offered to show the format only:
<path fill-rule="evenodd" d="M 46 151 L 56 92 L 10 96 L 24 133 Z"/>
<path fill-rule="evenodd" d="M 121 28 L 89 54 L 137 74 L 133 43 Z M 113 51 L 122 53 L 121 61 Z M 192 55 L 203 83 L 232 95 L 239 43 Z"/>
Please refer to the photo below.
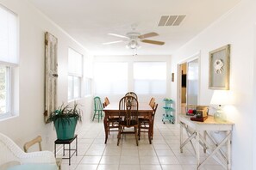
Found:
<path fill-rule="evenodd" d="M 18 79 L 17 15 L 0 5 L 0 119 L 17 114 Z M 12 80 L 12 81 L 11 81 Z M 12 95 L 11 95 L 12 94 Z"/>

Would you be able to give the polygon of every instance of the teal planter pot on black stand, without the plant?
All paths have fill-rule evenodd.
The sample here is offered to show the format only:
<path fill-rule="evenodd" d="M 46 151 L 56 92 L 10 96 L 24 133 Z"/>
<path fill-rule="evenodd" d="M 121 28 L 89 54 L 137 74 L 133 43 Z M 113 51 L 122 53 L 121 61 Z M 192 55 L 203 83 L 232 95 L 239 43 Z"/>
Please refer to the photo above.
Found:
<path fill-rule="evenodd" d="M 58 118 L 54 122 L 57 138 L 59 140 L 72 139 L 75 135 L 78 118 Z"/>

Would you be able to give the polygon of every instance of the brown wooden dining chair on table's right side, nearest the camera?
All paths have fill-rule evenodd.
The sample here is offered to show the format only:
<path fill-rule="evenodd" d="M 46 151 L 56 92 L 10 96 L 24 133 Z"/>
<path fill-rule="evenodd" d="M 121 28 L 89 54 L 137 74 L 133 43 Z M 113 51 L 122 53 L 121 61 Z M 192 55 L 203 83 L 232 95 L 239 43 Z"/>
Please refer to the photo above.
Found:
<path fill-rule="evenodd" d="M 139 131 L 138 131 L 138 135 L 139 135 L 139 140 L 140 140 L 140 132 L 147 132 L 151 134 L 149 134 L 151 136 L 151 139 L 153 140 L 153 124 L 154 124 L 154 116 L 155 113 L 157 111 L 159 104 L 155 104 L 153 106 L 153 113 L 152 113 L 152 126 L 151 126 L 151 130 L 150 128 L 150 119 L 149 118 L 139 118 Z M 142 130 L 142 131 L 141 131 Z"/>

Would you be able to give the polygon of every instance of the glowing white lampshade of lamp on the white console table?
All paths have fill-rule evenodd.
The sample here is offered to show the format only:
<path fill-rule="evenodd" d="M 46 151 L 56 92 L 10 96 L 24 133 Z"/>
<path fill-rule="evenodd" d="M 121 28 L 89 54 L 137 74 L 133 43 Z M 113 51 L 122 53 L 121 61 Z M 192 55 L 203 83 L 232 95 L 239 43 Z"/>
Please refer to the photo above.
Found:
<path fill-rule="evenodd" d="M 210 100 L 211 105 L 228 105 L 230 104 L 230 94 L 228 90 L 215 90 Z"/>

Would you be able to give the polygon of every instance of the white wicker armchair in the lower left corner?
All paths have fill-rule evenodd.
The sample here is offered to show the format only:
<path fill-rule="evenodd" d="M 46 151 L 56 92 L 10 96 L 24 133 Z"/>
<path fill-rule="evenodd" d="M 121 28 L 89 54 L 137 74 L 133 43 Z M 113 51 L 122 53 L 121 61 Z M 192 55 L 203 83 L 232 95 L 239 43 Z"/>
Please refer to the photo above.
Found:
<path fill-rule="evenodd" d="M 56 165 L 55 157 L 50 151 L 25 153 L 9 137 L 0 133 L 0 169 L 19 164 Z M 57 166 L 56 166 L 57 167 Z"/>

